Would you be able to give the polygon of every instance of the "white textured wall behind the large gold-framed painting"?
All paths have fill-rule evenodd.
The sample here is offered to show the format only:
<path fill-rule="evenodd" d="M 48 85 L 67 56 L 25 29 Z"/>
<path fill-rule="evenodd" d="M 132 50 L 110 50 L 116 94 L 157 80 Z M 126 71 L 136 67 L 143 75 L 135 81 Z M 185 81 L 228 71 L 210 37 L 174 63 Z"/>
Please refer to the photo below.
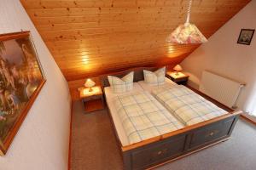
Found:
<path fill-rule="evenodd" d="M 19 0 L 0 0 L 0 33 L 32 31 L 47 82 L 22 123 L 1 170 L 67 169 L 70 94 L 67 82 Z"/>

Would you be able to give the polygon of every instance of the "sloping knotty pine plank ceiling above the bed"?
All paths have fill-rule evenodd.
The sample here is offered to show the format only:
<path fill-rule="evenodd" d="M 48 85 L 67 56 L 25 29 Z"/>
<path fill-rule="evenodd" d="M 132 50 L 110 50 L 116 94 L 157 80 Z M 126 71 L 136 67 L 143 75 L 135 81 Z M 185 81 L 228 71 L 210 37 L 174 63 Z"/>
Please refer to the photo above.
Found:
<path fill-rule="evenodd" d="M 20 0 L 67 81 L 134 66 L 176 64 L 197 45 L 166 37 L 188 0 Z M 250 0 L 194 0 L 191 22 L 210 37 Z"/>

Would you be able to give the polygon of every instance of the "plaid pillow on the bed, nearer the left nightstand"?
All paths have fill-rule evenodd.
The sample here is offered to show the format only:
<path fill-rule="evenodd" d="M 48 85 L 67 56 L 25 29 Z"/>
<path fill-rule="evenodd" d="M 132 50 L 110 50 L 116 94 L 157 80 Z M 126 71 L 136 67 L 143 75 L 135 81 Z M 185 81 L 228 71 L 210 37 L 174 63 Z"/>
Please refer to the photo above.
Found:
<path fill-rule="evenodd" d="M 113 93 L 125 93 L 133 88 L 133 71 L 125 75 L 123 78 L 108 76 L 108 82 Z"/>

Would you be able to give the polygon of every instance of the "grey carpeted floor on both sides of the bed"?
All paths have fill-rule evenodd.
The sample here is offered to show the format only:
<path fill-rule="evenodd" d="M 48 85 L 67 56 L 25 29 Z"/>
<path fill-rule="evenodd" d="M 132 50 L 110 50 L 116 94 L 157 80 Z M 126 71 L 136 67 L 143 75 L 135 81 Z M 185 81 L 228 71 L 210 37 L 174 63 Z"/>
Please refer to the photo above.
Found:
<path fill-rule="evenodd" d="M 72 170 L 121 170 L 122 160 L 106 110 L 84 114 L 73 103 Z M 157 170 L 255 170 L 256 126 L 240 120 L 232 138 Z"/>

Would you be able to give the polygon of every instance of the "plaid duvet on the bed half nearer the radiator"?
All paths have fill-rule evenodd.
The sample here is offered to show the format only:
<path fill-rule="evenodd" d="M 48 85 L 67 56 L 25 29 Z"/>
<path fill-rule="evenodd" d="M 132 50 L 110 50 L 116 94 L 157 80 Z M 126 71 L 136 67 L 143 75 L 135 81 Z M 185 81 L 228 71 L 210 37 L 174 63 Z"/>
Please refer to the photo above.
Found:
<path fill-rule="evenodd" d="M 228 113 L 184 86 L 154 89 L 152 94 L 185 125 L 204 122 Z"/>

